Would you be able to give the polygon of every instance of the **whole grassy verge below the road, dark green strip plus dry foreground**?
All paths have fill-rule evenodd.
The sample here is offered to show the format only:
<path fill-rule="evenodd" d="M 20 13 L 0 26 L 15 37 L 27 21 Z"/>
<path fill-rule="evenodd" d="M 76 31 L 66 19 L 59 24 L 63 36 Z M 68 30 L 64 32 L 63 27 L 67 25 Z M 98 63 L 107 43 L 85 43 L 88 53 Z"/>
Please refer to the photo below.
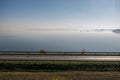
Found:
<path fill-rule="evenodd" d="M 120 79 L 119 62 L 0 61 L 0 71 L 0 80 Z"/>

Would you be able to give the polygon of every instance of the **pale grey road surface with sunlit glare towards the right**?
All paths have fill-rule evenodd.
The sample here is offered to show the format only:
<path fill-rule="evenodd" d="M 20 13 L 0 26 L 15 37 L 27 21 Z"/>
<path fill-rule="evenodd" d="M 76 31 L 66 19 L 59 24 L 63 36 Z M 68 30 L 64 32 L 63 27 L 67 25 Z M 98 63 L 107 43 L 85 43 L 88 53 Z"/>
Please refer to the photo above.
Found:
<path fill-rule="evenodd" d="M 120 61 L 120 56 L 0 55 L 0 60 Z"/>

